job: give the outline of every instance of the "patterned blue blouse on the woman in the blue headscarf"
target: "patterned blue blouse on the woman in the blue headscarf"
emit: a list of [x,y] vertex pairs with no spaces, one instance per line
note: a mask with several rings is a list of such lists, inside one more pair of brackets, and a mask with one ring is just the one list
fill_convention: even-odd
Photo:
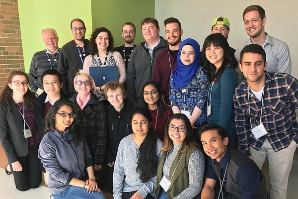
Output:
[[196,127],[207,120],[207,96],[209,85],[210,81],[208,74],[202,67],[199,68],[194,78],[183,88],[174,89],[172,76],[170,78],[171,107],[173,107],[173,105],[178,106],[180,110],[190,111],[190,114],[193,113],[196,106],[202,110],[202,114],[194,124]]

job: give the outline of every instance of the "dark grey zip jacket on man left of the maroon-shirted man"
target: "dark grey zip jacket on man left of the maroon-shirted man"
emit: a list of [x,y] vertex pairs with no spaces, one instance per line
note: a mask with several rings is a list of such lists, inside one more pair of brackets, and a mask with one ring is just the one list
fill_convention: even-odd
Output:
[[153,70],[157,54],[166,48],[167,42],[160,37],[159,44],[153,49],[152,59],[145,43],[139,44],[131,55],[127,68],[127,97],[132,103],[139,103],[143,98],[142,86],[153,79]]

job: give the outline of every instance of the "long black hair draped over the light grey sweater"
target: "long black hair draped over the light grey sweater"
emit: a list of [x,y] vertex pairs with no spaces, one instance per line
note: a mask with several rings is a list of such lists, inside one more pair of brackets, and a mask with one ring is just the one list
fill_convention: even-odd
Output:
[[[132,112],[131,120],[136,114],[141,114],[148,119],[149,123],[152,122],[152,116],[149,112],[149,109],[144,107],[135,108]],[[156,133],[150,126],[148,134],[141,144],[139,148],[139,154],[137,156],[138,166],[136,171],[140,175],[139,178],[142,183],[146,183],[157,174],[158,157],[156,154],[156,142]]]

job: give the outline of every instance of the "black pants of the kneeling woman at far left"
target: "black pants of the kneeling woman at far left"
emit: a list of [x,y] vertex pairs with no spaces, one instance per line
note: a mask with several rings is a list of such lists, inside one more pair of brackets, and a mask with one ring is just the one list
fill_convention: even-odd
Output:
[[19,191],[27,191],[30,188],[38,188],[41,183],[40,159],[38,158],[38,146],[28,147],[28,154],[18,157],[18,161],[22,165],[22,171],[14,172],[10,164],[13,174],[15,188]]

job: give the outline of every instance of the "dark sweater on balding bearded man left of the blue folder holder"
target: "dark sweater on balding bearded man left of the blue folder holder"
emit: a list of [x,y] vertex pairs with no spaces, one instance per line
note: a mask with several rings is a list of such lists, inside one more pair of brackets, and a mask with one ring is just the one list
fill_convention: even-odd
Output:
[[[84,40],[85,55],[90,54],[89,51],[89,40]],[[84,60],[85,57],[82,56]],[[78,54],[77,47],[73,41],[66,43],[62,48],[59,55],[58,71],[61,73],[63,78],[63,91],[65,94],[75,93],[74,90],[74,77],[75,74],[83,68],[83,63]]]

